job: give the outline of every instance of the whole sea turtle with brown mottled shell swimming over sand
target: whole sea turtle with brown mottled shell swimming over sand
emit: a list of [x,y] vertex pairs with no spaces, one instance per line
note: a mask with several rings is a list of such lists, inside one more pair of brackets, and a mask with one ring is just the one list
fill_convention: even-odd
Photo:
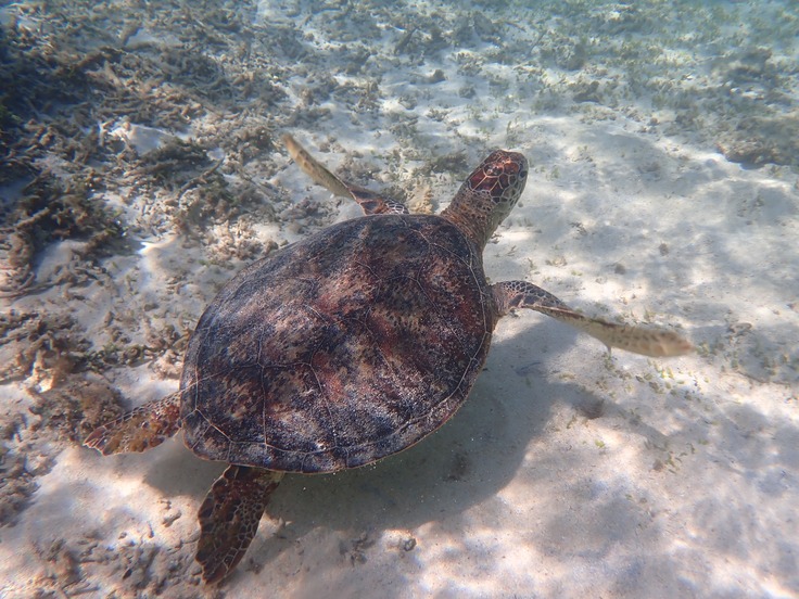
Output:
[[673,332],[582,316],[532,283],[485,280],[483,248],[527,182],[521,154],[493,152],[441,215],[411,215],[283,140],[314,181],[355,200],[366,216],[242,270],[200,318],[180,390],[85,442],[104,455],[143,451],[182,429],[194,454],[229,464],[199,512],[206,583],[244,556],[283,473],[371,463],[446,422],[512,309],[541,311],[608,347],[690,351]]

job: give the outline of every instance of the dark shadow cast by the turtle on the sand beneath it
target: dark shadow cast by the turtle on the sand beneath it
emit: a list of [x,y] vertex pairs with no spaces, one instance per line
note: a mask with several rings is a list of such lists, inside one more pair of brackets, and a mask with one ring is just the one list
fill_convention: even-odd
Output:
[[[357,538],[375,541],[386,531],[407,532],[411,538],[413,531],[427,523],[447,521],[448,527],[457,527],[453,522],[464,512],[494,497],[517,475],[531,441],[544,431],[556,404],[600,400],[586,397],[589,392],[575,383],[553,380],[540,371],[540,356],[520,356],[513,348],[517,344],[536,347],[540,330],[546,328],[558,331],[551,335],[547,356],[573,344],[571,331],[544,319],[494,344],[485,370],[458,413],[418,445],[357,469],[287,475],[266,509],[245,564],[269,569],[283,551],[293,551],[314,533],[329,535],[331,546],[343,547]],[[593,357],[603,360],[603,349],[597,347]],[[510,378],[527,378],[528,384],[503,382]],[[516,392],[520,387],[523,393]],[[199,462],[183,448],[151,459],[145,484],[166,497],[191,496],[198,508],[224,470],[223,462]],[[189,462],[192,475],[186,476],[181,472]],[[284,524],[276,531],[278,522]],[[328,563],[351,566],[334,547],[330,549]],[[229,584],[245,571],[246,566],[240,568]]]

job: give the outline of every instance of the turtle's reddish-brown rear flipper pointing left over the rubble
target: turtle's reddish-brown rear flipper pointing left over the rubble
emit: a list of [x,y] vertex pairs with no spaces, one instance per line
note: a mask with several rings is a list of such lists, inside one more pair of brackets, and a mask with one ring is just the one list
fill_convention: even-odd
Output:
[[180,392],[150,402],[94,429],[84,441],[103,456],[144,451],[180,429]]

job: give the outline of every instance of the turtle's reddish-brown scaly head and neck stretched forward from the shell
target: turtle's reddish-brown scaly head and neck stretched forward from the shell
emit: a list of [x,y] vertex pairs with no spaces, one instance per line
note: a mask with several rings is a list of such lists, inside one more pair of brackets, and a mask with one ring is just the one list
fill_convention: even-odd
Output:
[[442,213],[479,247],[519,201],[528,180],[528,161],[518,152],[496,150],[460,186],[449,206]]

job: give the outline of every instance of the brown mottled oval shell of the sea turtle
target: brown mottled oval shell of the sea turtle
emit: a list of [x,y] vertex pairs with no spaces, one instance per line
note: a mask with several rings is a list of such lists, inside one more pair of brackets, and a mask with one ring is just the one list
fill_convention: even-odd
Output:
[[228,282],[189,343],[185,441],[287,472],[363,466],[465,402],[497,310],[473,244],[432,215],[329,227]]

